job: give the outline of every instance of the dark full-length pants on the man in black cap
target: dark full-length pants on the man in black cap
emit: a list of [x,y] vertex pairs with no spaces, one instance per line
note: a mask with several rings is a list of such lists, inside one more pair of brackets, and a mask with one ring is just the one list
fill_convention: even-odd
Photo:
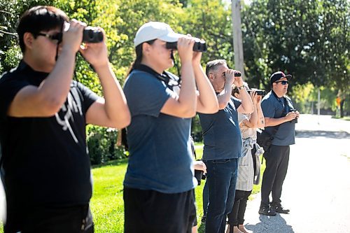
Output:
[[282,185],[289,162],[289,146],[271,145],[264,157],[266,169],[262,176],[261,206],[269,205],[270,192],[272,192],[272,203],[281,204]]

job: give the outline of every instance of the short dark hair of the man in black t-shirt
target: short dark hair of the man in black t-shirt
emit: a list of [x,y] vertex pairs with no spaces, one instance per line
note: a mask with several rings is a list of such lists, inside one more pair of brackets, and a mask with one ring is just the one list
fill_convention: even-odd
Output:
[[48,31],[50,29],[62,29],[64,22],[68,22],[69,17],[62,10],[53,6],[34,6],[20,18],[17,33],[20,40],[20,48],[25,52],[25,42],[23,36],[26,32],[31,32],[34,38],[40,31]]

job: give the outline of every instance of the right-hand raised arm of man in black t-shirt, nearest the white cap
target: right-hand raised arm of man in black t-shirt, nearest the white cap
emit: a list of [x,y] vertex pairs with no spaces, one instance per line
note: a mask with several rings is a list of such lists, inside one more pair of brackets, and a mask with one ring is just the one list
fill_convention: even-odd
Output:
[[80,52],[97,72],[104,93],[104,98],[99,98],[87,110],[86,122],[104,127],[126,127],[131,121],[130,111],[123,89],[109,64],[105,41],[87,43]]

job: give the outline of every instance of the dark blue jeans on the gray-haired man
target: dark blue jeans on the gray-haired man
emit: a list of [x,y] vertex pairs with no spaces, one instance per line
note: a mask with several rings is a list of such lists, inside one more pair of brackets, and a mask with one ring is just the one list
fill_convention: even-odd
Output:
[[238,162],[235,159],[207,160],[209,204],[206,233],[225,233],[226,216],[235,200]]

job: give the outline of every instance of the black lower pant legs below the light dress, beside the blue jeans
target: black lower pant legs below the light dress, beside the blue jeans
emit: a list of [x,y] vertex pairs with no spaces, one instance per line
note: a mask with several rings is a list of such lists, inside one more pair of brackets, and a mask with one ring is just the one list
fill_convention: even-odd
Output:
[[251,191],[236,190],[235,203],[231,213],[228,214],[228,224],[232,226],[243,225],[244,213],[246,213],[246,202]]

